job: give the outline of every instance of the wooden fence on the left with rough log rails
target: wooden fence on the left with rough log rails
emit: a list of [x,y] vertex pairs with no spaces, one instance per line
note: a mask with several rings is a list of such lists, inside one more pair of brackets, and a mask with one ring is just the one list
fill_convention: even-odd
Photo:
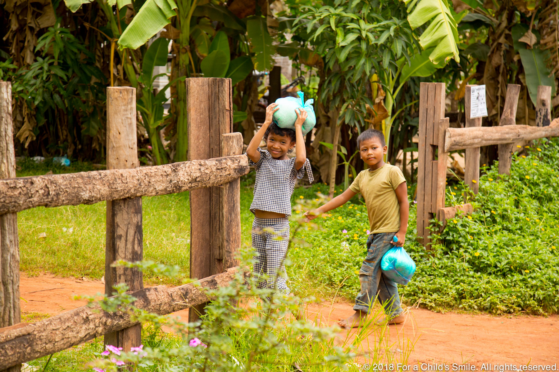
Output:
[[238,268],[241,244],[240,181],[249,171],[241,155],[243,138],[233,129],[231,80],[192,78],[188,94],[189,161],[139,167],[136,144],[136,90],[107,88],[107,170],[16,178],[11,84],[0,82],[0,371],[105,335],[105,344],[139,346],[141,325],[124,313],[87,307],[20,323],[17,212],[37,206],[107,201],[105,292],[128,284],[135,306],[168,314],[194,307],[195,320],[209,298],[192,284],[144,288],[137,269],[111,263],[143,258],[141,196],[190,190],[191,278],[203,287],[227,286]]

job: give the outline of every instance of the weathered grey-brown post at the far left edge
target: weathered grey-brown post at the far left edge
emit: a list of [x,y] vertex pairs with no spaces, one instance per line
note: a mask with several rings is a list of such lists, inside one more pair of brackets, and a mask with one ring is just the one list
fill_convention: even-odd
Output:
[[[0,81],[0,178],[16,177],[13,148],[12,83]],[[20,243],[17,213],[0,215],[0,328],[21,322]],[[0,366],[2,368],[2,366]],[[19,372],[21,365],[5,372]]]

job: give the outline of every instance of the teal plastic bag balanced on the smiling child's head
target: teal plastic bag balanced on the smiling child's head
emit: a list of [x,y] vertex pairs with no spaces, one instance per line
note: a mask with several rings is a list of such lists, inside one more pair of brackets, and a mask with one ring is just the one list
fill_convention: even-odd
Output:
[[307,118],[302,125],[301,131],[303,136],[305,136],[316,125],[316,116],[312,107],[314,99],[307,99],[307,102],[305,102],[303,92],[298,91],[297,94],[300,98],[285,97],[276,100],[279,110],[274,113],[273,122],[280,128],[295,129],[295,120],[297,120],[295,109],[304,109],[307,112]]

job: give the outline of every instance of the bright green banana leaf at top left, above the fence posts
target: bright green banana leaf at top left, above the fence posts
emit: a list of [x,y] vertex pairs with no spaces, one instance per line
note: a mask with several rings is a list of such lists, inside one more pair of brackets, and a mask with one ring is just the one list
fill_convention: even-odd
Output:
[[176,16],[173,0],[146,0],[119,38],[119,48],[138,49]]

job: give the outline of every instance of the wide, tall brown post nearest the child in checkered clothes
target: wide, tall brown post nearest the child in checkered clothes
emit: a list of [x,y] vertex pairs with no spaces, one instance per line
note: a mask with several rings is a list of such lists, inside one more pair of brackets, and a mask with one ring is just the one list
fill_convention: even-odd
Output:
[[[233,125],[231,79],[189,78],[186,79],[185,84],[188,113],[188,160],[223,156],[224,143],[229,144],[230,139],[224,139],[222,135],[231,133]],[[231,147],[228,145],[227,148]],[[238,146],[235,147],[234,152],[240,153]],[[228,238],[222,235],[221,224],[224,224],[225,219],[229,218],[229,212],[224,207],[233,207],[224,205],[224,192],[227,191],[226,195],[230,197],[233,190],[234,186],[227,189],[225,186],[217,186],[190,192],[191,278],[206,278],[224,272],[227,268],[224,260],[226,258],[225,241]],[[228,249],[236,250],[238,247],[228,247]],[[189,320],[191,322],[197,320],[205,306],[206,304],[191,307],[188,312]]]

